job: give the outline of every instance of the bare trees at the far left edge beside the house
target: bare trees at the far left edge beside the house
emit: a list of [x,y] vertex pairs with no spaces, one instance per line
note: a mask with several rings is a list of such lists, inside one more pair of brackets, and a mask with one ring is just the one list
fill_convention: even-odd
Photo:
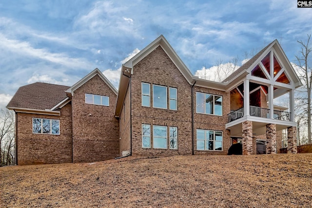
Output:
[[0,166],[15,164],[14,112],[0,110]]

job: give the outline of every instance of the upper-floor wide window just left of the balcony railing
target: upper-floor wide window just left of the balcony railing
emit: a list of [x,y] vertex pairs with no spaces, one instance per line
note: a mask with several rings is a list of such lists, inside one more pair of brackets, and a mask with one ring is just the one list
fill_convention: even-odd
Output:
[[222,115],[222,96],[196,92],[196,113]]

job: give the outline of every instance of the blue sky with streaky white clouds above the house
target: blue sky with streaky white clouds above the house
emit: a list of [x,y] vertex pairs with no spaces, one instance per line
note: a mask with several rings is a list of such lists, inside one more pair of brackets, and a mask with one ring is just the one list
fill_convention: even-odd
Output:
[[121,64],[161,34],[194,75],[274,39],[293,61],[311,20],[296,0],[1,0],[0,108],[20,86],[71,86],[95,68],[117,87]]

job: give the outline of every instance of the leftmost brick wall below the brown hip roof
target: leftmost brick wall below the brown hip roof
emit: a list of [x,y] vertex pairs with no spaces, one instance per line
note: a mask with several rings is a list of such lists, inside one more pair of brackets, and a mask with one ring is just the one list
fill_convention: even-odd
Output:
[[[72,162],[71,105],[60,116],[18,113],[18,165]],[[60,135],[34,134],[32,118],[58,119]]]

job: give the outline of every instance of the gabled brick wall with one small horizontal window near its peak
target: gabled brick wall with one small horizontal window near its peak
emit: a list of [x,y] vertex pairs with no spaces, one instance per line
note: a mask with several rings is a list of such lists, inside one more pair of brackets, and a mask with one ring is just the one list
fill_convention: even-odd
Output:
[[[109,96],[109,106],[85,104],[85,93]],[[98,76],[74,92],[74,162],[94,162],[119,156],[119,124],[115,118],[117,95]]]

